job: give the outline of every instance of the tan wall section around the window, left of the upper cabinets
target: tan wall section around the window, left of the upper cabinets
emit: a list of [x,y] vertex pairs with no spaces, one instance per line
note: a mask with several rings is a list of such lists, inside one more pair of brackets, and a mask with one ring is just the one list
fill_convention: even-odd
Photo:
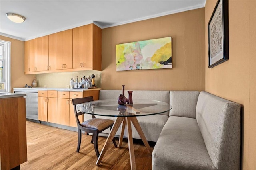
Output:
[[14,87],[32,84],[33,76],[24,74],[24,41],[0,36],[0,39],[11,42],[11,91]]

